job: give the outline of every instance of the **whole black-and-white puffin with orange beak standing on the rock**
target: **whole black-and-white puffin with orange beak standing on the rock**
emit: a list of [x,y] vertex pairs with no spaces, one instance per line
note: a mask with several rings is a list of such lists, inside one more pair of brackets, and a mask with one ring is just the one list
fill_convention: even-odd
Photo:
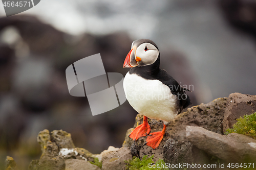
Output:
[[[126,99],[143,115],[143,123],[129,137],[136,141],[149,134],[144,144],[156,149],[168,124],[191,104],[186,94],[190,90],[182,87],[167,71],[160,69],[160,53],[150,39],[133,41],[123,67],[131,67],[123,80]],[[162,120],[163,130],[150,133],[147,117]]]

